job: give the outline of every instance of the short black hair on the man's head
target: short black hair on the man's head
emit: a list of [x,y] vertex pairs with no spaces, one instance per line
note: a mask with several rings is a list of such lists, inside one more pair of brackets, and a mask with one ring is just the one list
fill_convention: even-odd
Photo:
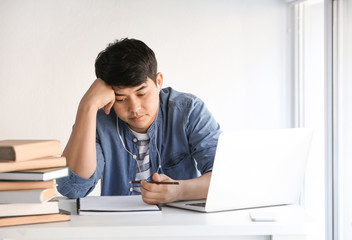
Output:
[[156,84],[157,61],[144,42],[123,38],[98,54],[95,74],[110,86],[136,87],[145,83],[147,77]]

